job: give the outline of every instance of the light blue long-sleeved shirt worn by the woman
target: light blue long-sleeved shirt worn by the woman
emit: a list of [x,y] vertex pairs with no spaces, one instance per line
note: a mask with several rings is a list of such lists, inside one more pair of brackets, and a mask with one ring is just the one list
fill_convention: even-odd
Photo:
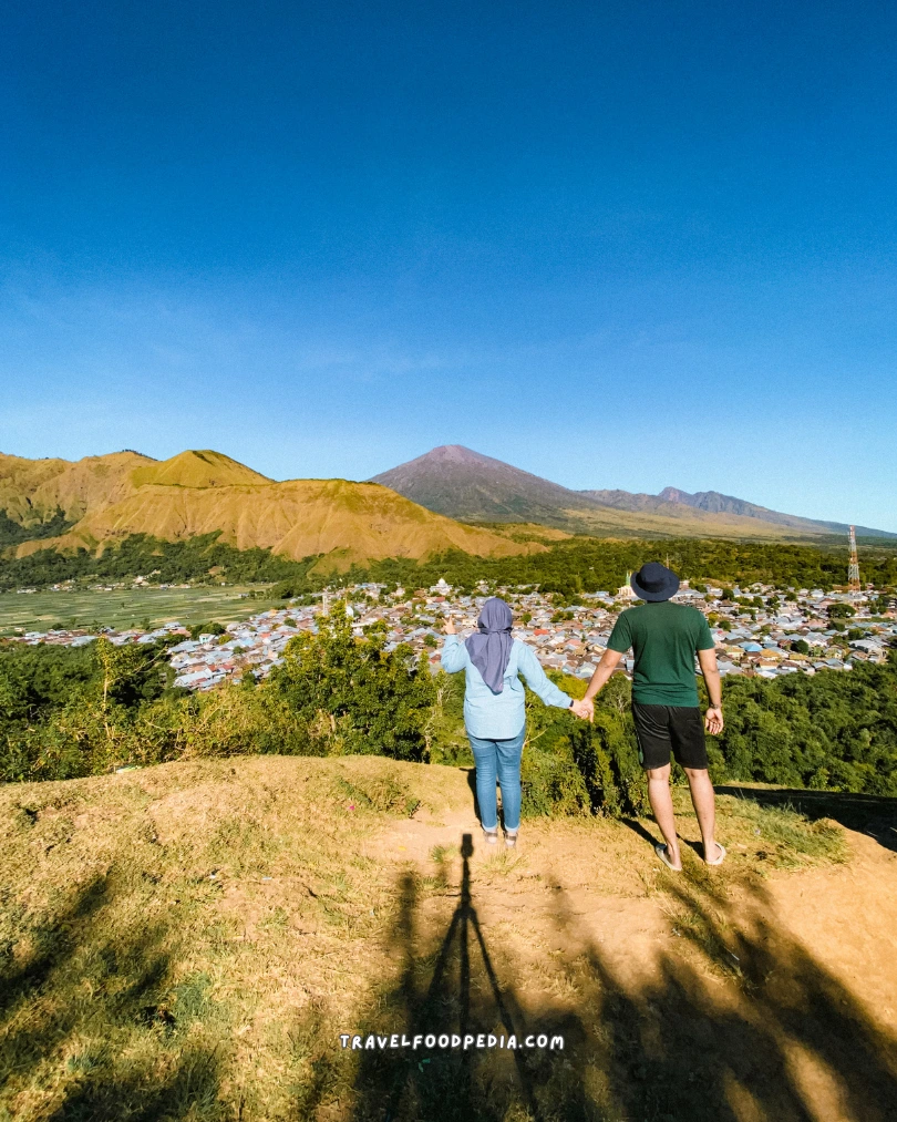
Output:
[[570,708],[572,699],[548,680],[531,647],[517,638],[511,645],[501,693],[493,693],[486,684],[460,635],[445,636],[442,664],[450,674],[465,671],[464,725],[471,736],[483,741],[510,741],[526,724],[526,695],[518,674],[526,678],[527,686],[546,705]]

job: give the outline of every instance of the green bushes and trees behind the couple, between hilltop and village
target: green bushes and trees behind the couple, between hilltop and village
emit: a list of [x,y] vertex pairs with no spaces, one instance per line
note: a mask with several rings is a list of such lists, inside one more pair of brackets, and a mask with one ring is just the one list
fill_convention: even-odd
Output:
[[[463,679],[435,679],[385,625],[352,636],[339,609],[300,633],[260,683],[173,689],[165,645],[0,647],[0,779],[70,779],[129,764],[253,753],[386,755],[471,764]],[[172,640],[176,642],[176,640]],[[571,696],[585,683],[563,678]],[[703,687],[702,687],[703,688]],[[594,724],[528,695],[525,813],[645,809],[629,683],[599,695]],[[727,726],[710,742],[716,780],[897,795],[897,654],[849,674],[723,683]]]

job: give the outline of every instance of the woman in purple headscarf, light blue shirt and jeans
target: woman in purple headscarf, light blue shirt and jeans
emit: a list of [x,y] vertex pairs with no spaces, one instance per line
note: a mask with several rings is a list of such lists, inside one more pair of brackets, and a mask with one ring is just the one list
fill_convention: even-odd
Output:
[[447,619],[442,664],[450,674],[465,671],[464,727],[477,763],[477,800],[486,840],[498,842],[496,778],[501,788],[505,844],[517,845],[520,828],[520,755],[526,735],[524,687],[546,705],[585,717],[580,702],[549,682],[526,643],[511,635],[511,609],[497,596],[483,605],[478,631],[462,643]]

